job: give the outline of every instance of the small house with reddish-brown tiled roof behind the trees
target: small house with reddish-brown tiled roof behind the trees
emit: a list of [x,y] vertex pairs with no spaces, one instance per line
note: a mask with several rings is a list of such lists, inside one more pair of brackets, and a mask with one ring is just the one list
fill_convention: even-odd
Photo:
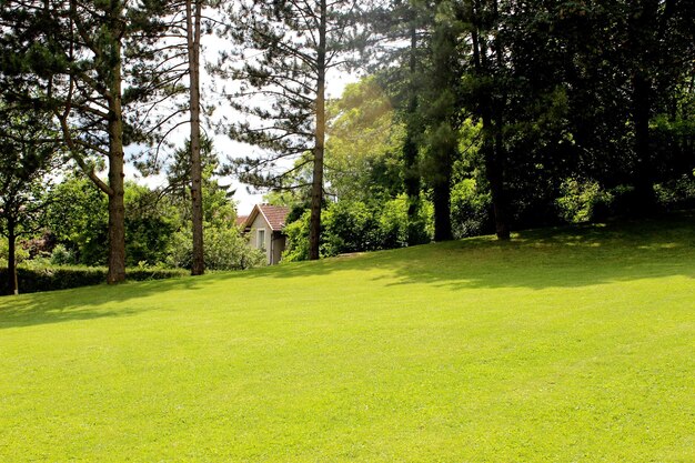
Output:
[[282,229],[290,208],[282,205],[256,204],[245,218],[242,230],[249,234],[249,244],[265,251],[268,264],[280,262],[285,249],[286,236]]

